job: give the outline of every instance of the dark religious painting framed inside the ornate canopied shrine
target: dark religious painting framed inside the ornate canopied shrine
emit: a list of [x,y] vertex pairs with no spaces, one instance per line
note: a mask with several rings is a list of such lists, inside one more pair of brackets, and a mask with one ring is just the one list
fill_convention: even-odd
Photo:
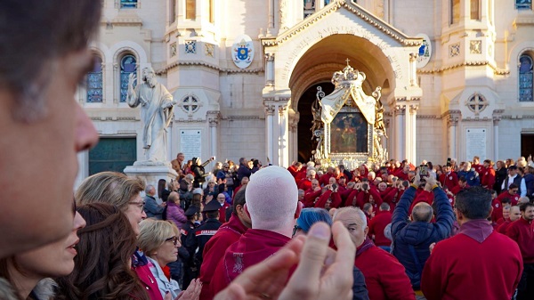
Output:
[[340,111],[330,124],[330,153],[357,152],[368,152],[368,122],[360,111]]

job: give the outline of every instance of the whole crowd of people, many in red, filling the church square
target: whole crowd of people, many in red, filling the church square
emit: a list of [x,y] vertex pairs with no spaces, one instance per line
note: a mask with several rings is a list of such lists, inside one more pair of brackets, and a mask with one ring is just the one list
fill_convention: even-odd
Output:
[[530,158],[206,172],[179,154],[170,182],[102,172],[73,197],[101,7],[0,3],[0,299],[534,298]]

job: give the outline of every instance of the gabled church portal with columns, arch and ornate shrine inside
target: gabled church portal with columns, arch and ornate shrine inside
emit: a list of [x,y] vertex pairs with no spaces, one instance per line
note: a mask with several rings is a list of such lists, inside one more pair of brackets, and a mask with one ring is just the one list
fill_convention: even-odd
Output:
[[420,37],[338,2],[260,39],[266,156],[273,164],[314,159],[355,166],[388,155],[416,161]]

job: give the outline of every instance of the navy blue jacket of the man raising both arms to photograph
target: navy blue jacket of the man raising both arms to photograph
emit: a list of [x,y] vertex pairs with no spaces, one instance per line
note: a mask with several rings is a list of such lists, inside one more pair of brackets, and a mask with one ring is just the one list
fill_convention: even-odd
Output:
[[420,288],[421,272],[430,256],[428,247],[433,242],[449,238],[455,220],[445,192],[435,188],[433,193],[434,207],[437,207],[435,223],[409,222],[409,207],[416,196],[416,189],[411,186],[402,194],[392,215],[392,255],[404,265],[414,289]]

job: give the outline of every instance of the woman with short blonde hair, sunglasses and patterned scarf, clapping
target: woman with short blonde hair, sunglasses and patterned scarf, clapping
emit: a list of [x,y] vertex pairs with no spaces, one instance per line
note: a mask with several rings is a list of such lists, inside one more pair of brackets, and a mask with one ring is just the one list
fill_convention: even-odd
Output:
[[198,280],[182,292],[178,282],[171,279],[167,264],[178,259],[178,247],[182,246],[180,231],[168,221],[144,220],[137,243],[149,260],[150,271],[158,281],[158,288],[164,299],[197,300],[202,288]]

